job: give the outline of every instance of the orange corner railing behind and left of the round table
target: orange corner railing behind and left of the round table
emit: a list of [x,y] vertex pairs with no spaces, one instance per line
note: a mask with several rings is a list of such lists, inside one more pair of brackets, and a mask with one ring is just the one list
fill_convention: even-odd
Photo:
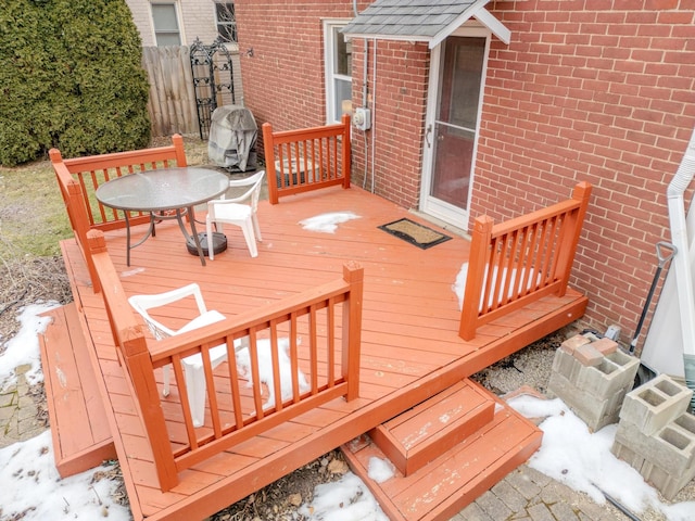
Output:
[[[157,167],[188,166],[184,138],[175,135],[172,144],[151,149],[115,152],[112,154],[90,155],[64,160],[60,150],[49,151],[53,171],[65,203],[73,233],[85,257],[94,292],[99,292],[99,282],[93,263],[89,256],[87,232],[90,229],[113,230],[125,228],[122,212],[104,207],[94,192],[99,185],[116,177]],[[139,213],[130,217],[130,226],[149,223],[147,214]]]

